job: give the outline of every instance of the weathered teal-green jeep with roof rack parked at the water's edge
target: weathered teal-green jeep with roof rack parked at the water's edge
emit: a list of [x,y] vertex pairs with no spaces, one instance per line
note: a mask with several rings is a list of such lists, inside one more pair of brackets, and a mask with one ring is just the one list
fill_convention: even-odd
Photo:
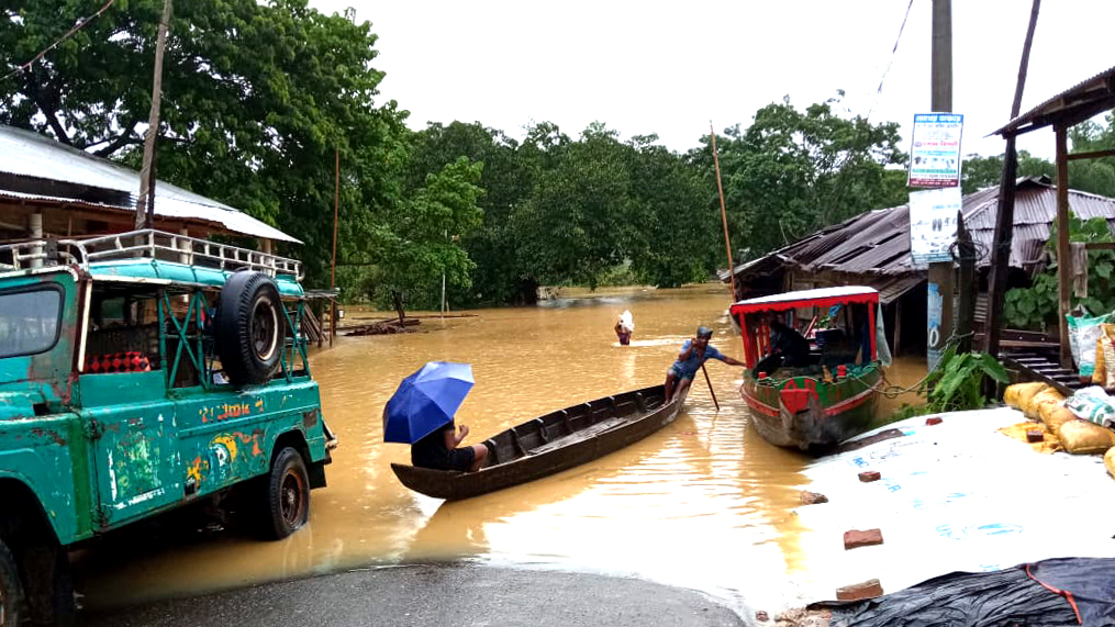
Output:
[[75,620],[67,550],[235,488],[309,520],[336,439],[298,262],[140,231],[0,246],[0,627]]

